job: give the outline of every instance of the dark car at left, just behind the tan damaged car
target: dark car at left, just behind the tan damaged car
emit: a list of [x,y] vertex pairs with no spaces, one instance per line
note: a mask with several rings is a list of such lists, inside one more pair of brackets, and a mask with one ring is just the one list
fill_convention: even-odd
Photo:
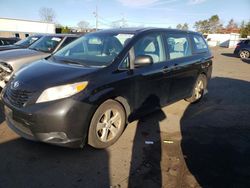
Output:
[[0,46],[0,51],[19,49],[19,48],[28,48],[30,45],[32,45],[34,42],[36,42],[42,36],[43,35],[32,35],[32,36],[29,36],[23,40],[20,40],[20,41],[14,43],[14,44]]

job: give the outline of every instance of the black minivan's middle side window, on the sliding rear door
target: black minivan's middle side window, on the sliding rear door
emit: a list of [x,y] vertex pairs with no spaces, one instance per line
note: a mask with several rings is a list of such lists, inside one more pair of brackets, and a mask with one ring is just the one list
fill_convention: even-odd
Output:
[[191,45],[185,34],[168,34],[167,46],[170,59],[187,57],[192,54]]

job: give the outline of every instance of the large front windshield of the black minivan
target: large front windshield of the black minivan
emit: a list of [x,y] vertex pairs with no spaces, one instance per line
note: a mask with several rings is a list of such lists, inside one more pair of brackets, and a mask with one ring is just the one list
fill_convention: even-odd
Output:
[[65,63],[83,66],[107,66],[133,37],[125,33],[91,33],[82,36],[54,54]]

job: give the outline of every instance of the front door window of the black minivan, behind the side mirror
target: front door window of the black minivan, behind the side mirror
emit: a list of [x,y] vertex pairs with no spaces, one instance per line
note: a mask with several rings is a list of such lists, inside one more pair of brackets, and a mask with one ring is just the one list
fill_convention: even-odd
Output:
[[150,34],[141,38],[134,45],[135,57],[149,55],[153,63],[166,60],[161,34]]

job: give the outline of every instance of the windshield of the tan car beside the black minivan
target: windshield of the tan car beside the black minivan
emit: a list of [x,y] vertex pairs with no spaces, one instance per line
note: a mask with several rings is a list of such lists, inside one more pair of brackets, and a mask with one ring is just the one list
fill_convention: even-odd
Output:
[[63,37],[59,36],[44,36],[29,48],[32,50],[42,51],[46,53],[52,53],[58,44],[61,42]]

